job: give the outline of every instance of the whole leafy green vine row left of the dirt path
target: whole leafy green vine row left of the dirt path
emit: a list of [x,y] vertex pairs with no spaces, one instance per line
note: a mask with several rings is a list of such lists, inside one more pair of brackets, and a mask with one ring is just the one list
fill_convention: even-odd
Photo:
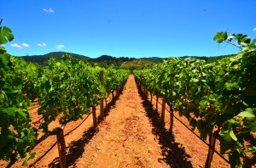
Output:
[[[49,59],[43,68],[8,53],[0,56],[0,160],[10,165],[19,158],[26,158],[26,165],[34,158],[32,148],[59,130],[49,130],[55,120],[65,126],[90,114],[90,107],[97,104],[102,106],[103,120],[103,99],[119,92],[129,75],[127,70],[92,67],[67,54],[59,62]],[[39,126],[31,125],[27,108],[32,102],[39,105]]]

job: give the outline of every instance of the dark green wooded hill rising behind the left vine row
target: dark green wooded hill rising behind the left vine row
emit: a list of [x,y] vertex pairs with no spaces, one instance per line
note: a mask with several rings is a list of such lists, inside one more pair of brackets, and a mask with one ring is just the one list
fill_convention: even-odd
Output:
[[[21,58],[25,59],[27,62],[32,62],[34,64],[41,64],[44,65],[47,63],[47,60],[49,58],[55,58],[56,60],[61,60],[61,56],[66,52],[52,52],[52,53],[46,53],[44,55],[32,55],[32,56],[21,56]],[[76,54],[76,53],[67,53],[72,55],[74,59],[87,61],[90,59],[90,57]]]

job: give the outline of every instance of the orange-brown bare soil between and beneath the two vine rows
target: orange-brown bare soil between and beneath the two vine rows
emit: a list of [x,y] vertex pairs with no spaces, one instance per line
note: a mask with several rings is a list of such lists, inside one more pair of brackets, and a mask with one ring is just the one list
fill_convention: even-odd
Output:
[[[172,136],[168,132],[170,116],[166,112],[166,126],[162,126],[160,105],[157,112],[155,100],[152,105],[139,92],[134,76],[129,76],[124,88],[119,98],[109,106],[106,118],[99,123],[96,132],[90,115],[78,129],[65,137],[68,167],[204,167],[207,145],[177,120],[174,120]],[[35,125],[40,120],[37,110],[30,110]],[[97,116],[99,113],[97,107]],[[68,123],[64,134],[82,121]],[[53,129],[57,126],[60,124],[55,121],[49,127]],[[56,137],[51,136],[39,143],[33,149],[37,153],[36,158],[29,160],[28,165],[44,154],[55,141]],[[13,167],[20,167],[21,163],[22,160],[19,160]],[[6,165],[0,161],[0,167]],[[60,167],[56,145],[33,167]],[[214,154],[212,167],[229,165]]]

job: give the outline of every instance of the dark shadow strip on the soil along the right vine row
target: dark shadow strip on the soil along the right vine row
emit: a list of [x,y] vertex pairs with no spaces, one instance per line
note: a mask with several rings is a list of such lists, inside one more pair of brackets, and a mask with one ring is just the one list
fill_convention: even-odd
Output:
[[184,167],[189,168],[193,167],[189,158],[191,156],[186,154],[185,149],[181,143],[175,142],[175,137],[166,130],[165,126],[161,123],[160,114],[154,109],[154,106],[148,101],[143,92],[139,87],[140,96],[143,98],[143,107],[147,112],[147,116],[152,123],[154,128],[152,129],[152,133],[155,135],[156,140],[159,141],[162,149],[163,159],[159,159],[159,161],[164,161],[171,167]]

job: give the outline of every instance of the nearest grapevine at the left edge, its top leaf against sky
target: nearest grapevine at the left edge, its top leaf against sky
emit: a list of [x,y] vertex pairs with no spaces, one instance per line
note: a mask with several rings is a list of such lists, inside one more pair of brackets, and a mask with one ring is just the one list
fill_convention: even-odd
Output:
[[[13,39],[12,31],[0,26],[0,45]],[[20,64],[1,46],[0,65],[0,160],[32,158],[34,154],[27,153],[35,143],[36,133],[26,110],[30,101],[22,91],[22,76],[16,73]]]

